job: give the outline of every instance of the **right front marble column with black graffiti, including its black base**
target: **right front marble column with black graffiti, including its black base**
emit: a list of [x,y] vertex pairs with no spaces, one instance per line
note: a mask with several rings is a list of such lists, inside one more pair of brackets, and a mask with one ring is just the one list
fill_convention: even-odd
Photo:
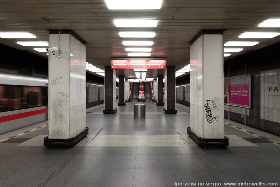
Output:
[[228,146],[224,133],[223,52],[223,30],[202,30],[191,41],[190,68],[194,70],[190,71],[188,134],[200,146]]

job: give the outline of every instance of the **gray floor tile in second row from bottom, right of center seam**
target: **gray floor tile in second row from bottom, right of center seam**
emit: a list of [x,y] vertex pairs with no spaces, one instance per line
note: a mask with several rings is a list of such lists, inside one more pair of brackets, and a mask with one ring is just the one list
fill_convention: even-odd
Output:
[[136,155],[135,168],[162,168],[159,155]]

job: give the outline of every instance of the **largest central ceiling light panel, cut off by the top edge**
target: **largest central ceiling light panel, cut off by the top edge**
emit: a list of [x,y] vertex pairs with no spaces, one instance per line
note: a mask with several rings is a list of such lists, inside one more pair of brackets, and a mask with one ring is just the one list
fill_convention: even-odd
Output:
[[105,0],[110,10],[160,9],[162,0]]

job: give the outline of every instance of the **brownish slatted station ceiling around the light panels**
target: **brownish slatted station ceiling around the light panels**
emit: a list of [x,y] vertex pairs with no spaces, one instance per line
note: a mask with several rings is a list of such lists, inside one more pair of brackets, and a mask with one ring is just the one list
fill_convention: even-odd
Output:
[[[124,39],[120,38],[119,31],[155,31],[151,57],[166,57],[167,65],[176,66],[178,70],[189,64],[189,41],[201,29],[226,29],[225,43],[259,41],[255,46],[243,47],[244,50],[231,53],[225,60],[280,41],[280,36],[270,39],[238,38],[245,31],[279,31],[280,28],[258,27],[264,20],[280,18],[279,0],[209,2],[163,0],[159,10],[109,10],[105,0],[1,0],[0,31],[28,31],[37,38],[0,38],[0,43],[47,57],[47,53],[37,52],[33,50],[34,47],[20,46],[16,42],[48,41],[48,29],[71,29],[87,42],[86,61],[104,68],[110,66],[110,57],[127,57],[122,44]],[[47,17],[52,22],[43,22],[41,17]],[[158,24],[150,28],[120,28],[114,25],[114,19],[158,19]],[[146,77],[156,77],[158,73],[162,74],[162,70],[150,70]],[[125,73],[126,76],[132,74],[130,70]]]

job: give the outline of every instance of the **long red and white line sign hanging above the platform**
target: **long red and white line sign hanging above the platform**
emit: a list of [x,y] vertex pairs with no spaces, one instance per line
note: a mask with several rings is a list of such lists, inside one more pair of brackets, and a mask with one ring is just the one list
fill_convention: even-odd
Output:
[[111,60],[111,69],[166,69],[166,60]]

